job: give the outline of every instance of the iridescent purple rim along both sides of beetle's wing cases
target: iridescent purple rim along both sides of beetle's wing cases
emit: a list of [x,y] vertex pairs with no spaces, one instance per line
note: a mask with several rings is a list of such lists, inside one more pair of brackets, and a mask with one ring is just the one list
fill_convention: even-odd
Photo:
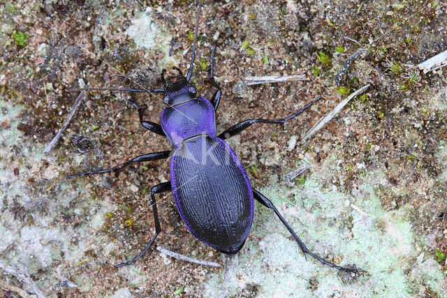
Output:
[[[245,232],[245,234],[244,234],[244,241],[242,242],[242,246],[243,246],[244,243],[245,243],[245,240],[247,239],[247,237],[248,237],[248,235],[249,235],[249,232],[250,232],[250,229],[251,229],[251,224],[253,223],[253,216],[254,216],[254,198],[253,198],[253,190],[251,189],[251,184],[250,184],[249,177],[247,176],[247,172],[245,172],[244,167],[242,167],[242,164],[240,163],[240,161],[239,161],[239,159],[237,158],[236,154],[234,153],[233,149],[231,149],[230,145],[228,145],[225,141],[219,139],[219,137],[216,137],[216,139],[217,139],[219,142],[223,143],[223,144],[225,145],[226,149],[228,149],[228,151],[230,151],[230,154],[231,154],[231,156],[232,156],[232,158],[233,158],[233,161],[235,161],[237,167],[239,167],[239,169],[241,170],[242,174],[244,175],[245,183],[246,183],[247,186],[249,186],[249,188],[250,188],[250,192],[249,192],[249,193],[250,193],[250,199],[251,199],[251,200],[250,200],[250,202],[251,202],[251,206],[250,206],[250,207],[251,207],[251,210],[250,210],[250,216],[251,216],[251,218],[250,218],[250,225],[249,225],[249,228],[247,229],[247,232]],[[176,150],[175,152],[177,152],[177,150]],[[209,242],[204,241],[203,239],[200,239],[200,237],[198,237],[198,235],[197,235],[193,230],[191,230],[191,228],[189,227],[189,225],[188,225],[188,224],[186,223],[186,221],[185,221],[185,218],[184,218],[184,216],[183,216],[183,210],[182,210],[182,207],[180,207],[179,202],[178,202],[178,200],[177,200],[177,192],[176,192],[176,190],[177,190],[177,185],[175,184],[175,179],[174,179],[174,176],[173,176],[173,172],[174,172],[174,169],[173,169],[173,164],[174,164],[174,163],[173,163],[173,160],[174,160],[175,157],[176,157],[176,156],[175,156],[175,153],[174,153],[173,158],[171,158],[171,160],[170,160],[170,184],[171,184],[172,189],[173,189],[174,200],[175,200],[175,204],[177,205],[177,210],[179,211],[180,217],[182,218],[182,221],[183,221],[184,224],[186,225],[186,228],[188,228],[188,230],[189,230],[191,233],[193,233],[193,235],[194,235],[197,239],[199,239],[200,241],[202,241],[202,242],[203,242],[204,244],[206,244],[207,246],[211,246],[212,248],[217,249],[217,251],[219,251],[219,248],[217,248],[215,245],[210,244]],[[242,246],[241,246],[240,248],[242,248]]]

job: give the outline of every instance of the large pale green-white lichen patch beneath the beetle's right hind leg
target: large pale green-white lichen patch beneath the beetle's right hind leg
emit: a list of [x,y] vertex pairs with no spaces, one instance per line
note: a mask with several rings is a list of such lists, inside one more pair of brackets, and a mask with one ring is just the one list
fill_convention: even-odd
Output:
[[[326,163],[327,171],[333,164]],[[273,212],[257,206],[250,235],[261,241],[249,238],[239,262],[208,281],[206,295],[215,295],[216,288],[236,295],[248,286],[260,297],[402,297],[425,290],[447,295],[437,262],[429,253],[421,256],[418,239],[423,237],[412,230],[412,207],[386,211],[376,197],[374,185],[385,183],[383,173],[369,173],[349,194],[322,188],[318,177],[318,172],[309,175],[294,199],[282,187],[261,192],[311,251],[337,265],[356,265],[363,274],[346,282],[339,271],[305,258]]]

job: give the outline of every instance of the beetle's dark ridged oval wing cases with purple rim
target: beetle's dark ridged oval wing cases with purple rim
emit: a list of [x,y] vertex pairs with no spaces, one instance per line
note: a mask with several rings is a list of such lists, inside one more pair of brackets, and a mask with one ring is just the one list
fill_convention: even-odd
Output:
[[184,141],[170,162],[170,179],[186,227],[218,251],[237,253],[254,203],[247,173],[228,144],[209,135]]

